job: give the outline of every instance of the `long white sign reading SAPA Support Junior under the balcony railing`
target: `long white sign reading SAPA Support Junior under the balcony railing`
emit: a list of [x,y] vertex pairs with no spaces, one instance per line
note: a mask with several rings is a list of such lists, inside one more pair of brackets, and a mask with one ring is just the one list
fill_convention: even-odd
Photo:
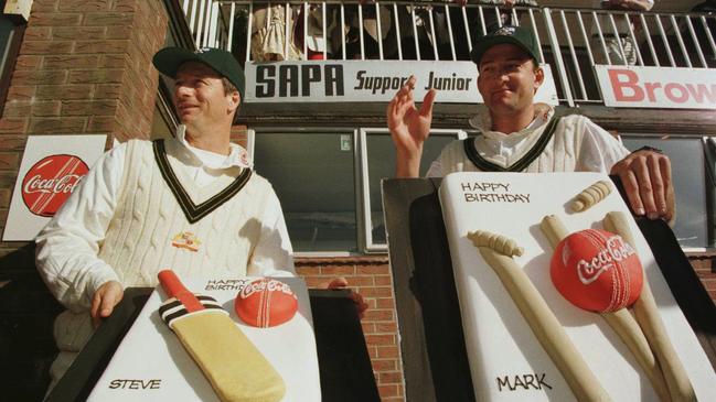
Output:
[[[535,101],[558,105],[548,65]],[[478,68],[472,62],[335,61],[277,62],[246,65],[246,101],[375,102],[389,101],[408,80],[417,78],[414,96],[438,89],[436,101],[481,104]]]

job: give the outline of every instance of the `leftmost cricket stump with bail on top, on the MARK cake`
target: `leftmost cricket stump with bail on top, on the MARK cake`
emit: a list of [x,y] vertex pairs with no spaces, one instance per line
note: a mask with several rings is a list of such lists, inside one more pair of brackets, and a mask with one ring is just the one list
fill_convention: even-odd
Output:
[[512,259],[522,248],[512,239],[488,231],[468,233],[485,262],[492,267],[539,344],[562,372],[579,401],[610,401],[559,320],[527,275]]

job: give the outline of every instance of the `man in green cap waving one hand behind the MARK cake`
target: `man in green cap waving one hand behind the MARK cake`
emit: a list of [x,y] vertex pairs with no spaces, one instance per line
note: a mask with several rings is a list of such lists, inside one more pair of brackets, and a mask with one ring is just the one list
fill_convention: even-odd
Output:
[[[620,176],[632,210],[651,219],[674,216],[671,164],[661,151],[629,151],[584,116],[556,117],[534,104],[544,72],[533,32],[505,25],[482,36],[470,56],[478,65],[478,89],[488,113],[470,124],[480,135],[448,144],[427,176],[452,172],[605,172]],[[423,144],[430,133],[430,89],[415,107],[410,77],[388,104],[388,129],[396,148],[396,175],[417,177]],[[539,104],[545,106],[544,104]]]

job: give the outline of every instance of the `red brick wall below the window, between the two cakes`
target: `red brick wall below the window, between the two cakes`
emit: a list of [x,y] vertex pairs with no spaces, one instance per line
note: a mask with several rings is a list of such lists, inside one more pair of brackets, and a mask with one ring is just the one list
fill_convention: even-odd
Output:
[[362,320],[363,334],[381,399],[404,401],[393,276],[387,257],[299,258],[296,270],[309,286],[343,276],[349,286],[361,293],[368,305]]

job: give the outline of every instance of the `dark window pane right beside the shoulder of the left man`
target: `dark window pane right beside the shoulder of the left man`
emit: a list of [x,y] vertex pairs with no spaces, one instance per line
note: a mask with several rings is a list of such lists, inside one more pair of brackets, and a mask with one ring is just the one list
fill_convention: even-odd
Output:
[[256,132],[256,172],[281,202],[295,251],[356,251],[353,132]]

